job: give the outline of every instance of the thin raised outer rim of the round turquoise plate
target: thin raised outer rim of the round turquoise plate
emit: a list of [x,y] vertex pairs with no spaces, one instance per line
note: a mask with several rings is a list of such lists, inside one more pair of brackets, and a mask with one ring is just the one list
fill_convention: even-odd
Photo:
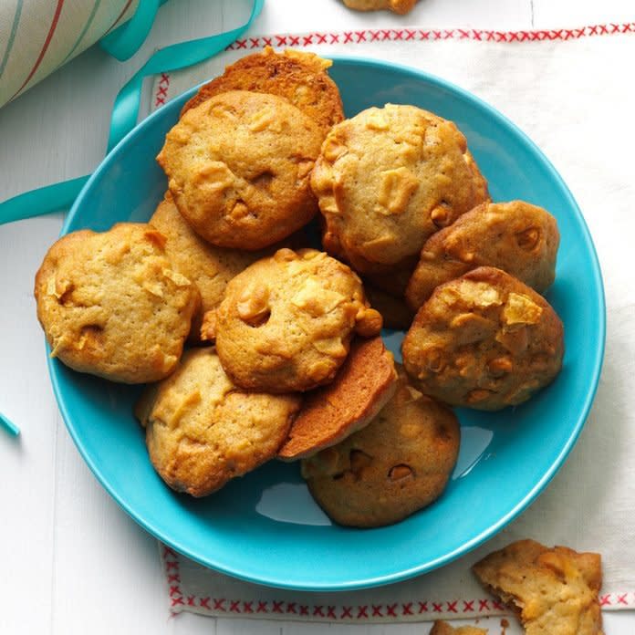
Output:
[[[531,505],[537,498],[539,494],[545,489],[547,484],[553,479],[553,477],[557,474],[558,470],[562,467],[562,465],[566,462],[568,454],[571,452],[572,448],[578,441],[580,432],[584,428],[585,423],[588,420],[588,414],[595,400],[596,393],[599,386],[599,378],[601,375],[605,347],[606,347],[606,299],[605,299],[605,290],[604,284],[601,274],[601,268],[599,265],[599,258],[597,251],[595,249],[595,245],[593,244],[593,240],[591,234],[588,230],[588,225],[582,214],[578,203],[576,202],[573,194],[569,190],[567,183],[560,176],[559,172],[557,172],[553,163],[549,161],[545,153],[536,145],[535,141],[532,141],[531,138],[512,120],[509,120],[502,112],[498,109],[495,109],[493,106],[488,104],[484,99],[479,98],[474,93],[470,92],[465,88],[461,88],[460,86],[454,84],[451,81],[448,81],[444,78],[440,78],[435,76],[427,71],[421,70],[419,68],[413,68],[407,65],[387,62],[380,59],[374,59],[370,57],[354,57],[354,56],[341,56],[341,55],[333,55],[329,56],[329,59],[333,60],[334,65],[339,64],[352,64],[359,65],[363,67],[371,67],[371,68],[380,68],[380,69],[389,69],[390,71],[397,70],[404,75],[410,75],[411,78],[423,80],[424,82],[434,86],[435,88],[442,88],[454,94],[454,96],[458,96],[463,101],[467,101],[472,105],[475,105],[477,108],[482,109],[486,112],[489,118],[492,118],[496,121],[497,124],[502,125],[507,131],[511,132],[518,139],[523,141],[526,145],[527,149],[532,152],[532,154],[541,161],[545,167],[547,168],[547,172],[549,172],[550,177],[559,184],[563,193],[566,195],[567,205],[570,209],[573,210],[575,215],[578,218],[578,222],[582,229],[582,234],[584,237],[584,243],[586,250],[590,257],[590,265],[593,271],[593,279],[595,281],[595,288],[598,293],[597,296],[594,294],[592,297],[594,304],[597,307],[597,318],[598,318],[598,335],[599,341],[595,350],[594,359],[592,360],[592,368],[593,373],[591,380],[589,382],[589,390],[585,396],[585,399],[581,405],[581,408],[578,413],[577,421],[575,425],[572,427],[571,432],[567,438],[567,442],[564,443],[563,447],[560,449],[560,452],[557,454],[556,459],[553,461],[549,469],[543,476],[534,484],[534,486],[529,490],[529,492],[520,500],[518,503],[509,510],[505,515],[503,515],[497,522],[489,526],[487,529],[482,531],[479,535],[474,536],[471,540],[468,540],[458,547],[454,549],[450,553],[446,553],[443,556],[437,557],[432,561],[429,560],[419,565],[415,565],[413,567],[409,567],[406,569],[401,569],[399,571],[384,574],[380,576],[370,576],[365,578],[356,578],[356,579],[348,579],[343,582],[333,583],[326,582],[320,583],[315,582],[310,585],[297,585],[294,583],[286,583],[284,580],[280,580],[276,577],[266,578],[263,576],[257,576],[250,574],[245,570],[236,570],[235,568],[230,568],[225,566],[223,563],[218,562],[217,558],[209,558],[198,555],[197,553],[193,553],[193,549],[190,547],[184,547],[181,545],[179,540],[175,540],[170,536],[165,536],[163,531],[155,526],[153,526],[150,522],[148,522],[145,518],[141,517],[138,513],[136,513],[130,505],[123,500],[122,496],[118,494],[114,488],[111,488],[107,482],[106,477],[99,469],[99,466],[95,463],[91,455],[87,452],[80,435],[78,435],[78,431],[72,421],[72,418],[69,415],[67,403],[63,396],[63,391],[61,390],[59,384],[59,374],[57,372],[57,367],[54,362],[54,359],[47,356],[47,368],[49,377],[51,379],[51,383],[53,385],[53,390],[55,393],[57,407],[62,414],[62,418],[66,425],[68,432],[70,433],[73,442],[78,448],[78,452],[80,453],[84,462],[88,465],[88,468],[97,478],[99,484],[106,490],[106,492],[113,498],[113,500],[120,505],[120,507],[128,514],[130,517],[139,524],[144,530],[149,532],[155,538],[161,540],[161,542],[168,547],[172,547],[180,552],[185,557],[192,558],[194,561],[203,565],[203,567],[211,568],[215,571],[223,573],[225,575],[231,576],[233,578],[239,578],[245,580],[247,582],[252,582],[255,584],[265,585],[271,588],[284,588],[284,589],[292,589],[292,590],[302,590],[302,591],[350,591],[356,590],[360,588],[374,588],[380,587],[384,585],[388,585],[391,583],[399,582],[402,580],[406,580],[409,578],[413,578],[415,576],[422,575],[423,573],[432,571],[435,568],[442,567],[447,565],[453,560],[461,557],[470,551],[474,550],[474,548],[483,544],[489,538],[495,536],[501,529],[503,529],[506,525],[508,525],[512,520],[515,519],[518,515],[520,515],[526,508]],[[183,92],[181,95],[175,97],[175,99],[186,99],[187,97],[193,95],[193,93],[203,84],[210,81],[210,78],[204,80],[203,82],[197,84],[193,88],[188,89]],[[170,103],[170,102],[168,102]],[[75,220],[75,216],[78,213],[78,209],[81,207],[84,198],[88,195],[88,192],[92,188],[94,182],[96,182],[101,173],[105,172],[109,168],[109,164],[112,161],[115,161],[117,155],[120,153],[121,149],[125,147],[130,141],[134,138],[142,134],[143,130],[150,125],[151,121],[157,117],[161,116],[162,108],[157,109],[152,112],[148,117],[144,120],[141,120],[135,128],[130,130],[128,134],[119,142],[117,145],[109,151],[106,157],[99,163],[99,166],[96,170],[91,174],[88,182],[84,184],[84,187],[81,189],[78,197],[73,203],[65,221],[62,225],[62,229],[60,231],[60,236],[68,234],[69,226],[73,224]],[[50,352],[50,349],[47,345],[47,352]]]

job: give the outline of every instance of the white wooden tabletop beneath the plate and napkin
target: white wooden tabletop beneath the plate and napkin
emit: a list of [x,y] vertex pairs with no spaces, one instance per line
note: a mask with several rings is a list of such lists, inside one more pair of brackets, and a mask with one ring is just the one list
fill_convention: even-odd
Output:
[[[126,63],[97,47],[0,109],[0,201],[90,172],[103,158],[112,100],[151,52],[238,26],[247,0],[170,0]],[[630,21],[624,0],[421,0],[405,18],[349,12],[338,0],[266,0],[259,33],[417,24],[528,29]],[[156,541],[110,499],[57,411],[36,322],[33,278],[61,215],[0,226],[0,410],[22,429],[0,433],[0,633],[423,633],[421,625],[330,626],[170,617]],[[635,632],[611,614],[608,635]],[[481,624],[486,624],[482,620]],[[492,619],[491,633],[501,632]],[[520,632],[507,629],[510,635]]]

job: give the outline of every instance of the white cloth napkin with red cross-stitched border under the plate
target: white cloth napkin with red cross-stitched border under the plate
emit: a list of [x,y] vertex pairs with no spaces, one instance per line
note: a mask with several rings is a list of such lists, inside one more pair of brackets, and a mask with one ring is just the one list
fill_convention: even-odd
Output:
[[524,537],[599,551],[602,608],[634,609],[635,82],[626,69],[635,58],[635,23],[506,33],[409,27],[246,36],[196,68],[158,76],[151,108],[265,44],[422,68],[471,90],[525,130],[574,193],[598,249],[608,310],[604,370],[579,442],[547,490],[512,525],[453,564],[389,587],[315,594],[228,578],[160,546],[172,610],[338,622],[501,614],[469,567]]

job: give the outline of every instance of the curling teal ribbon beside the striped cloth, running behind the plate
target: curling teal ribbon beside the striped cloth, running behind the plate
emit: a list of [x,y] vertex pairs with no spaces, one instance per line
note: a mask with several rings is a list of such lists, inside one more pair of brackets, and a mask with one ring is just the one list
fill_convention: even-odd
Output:
[[[142,0],[138,12],[142,6],[151,7],[155,0],[147,3]],[[149,75],[160,72],[168,72],[178,68],[186,68],[198,64],[204,59],[213,57],[228,47],[235,39],[241,36],[252,25],[255,18],[260,15],[265,0],[254,0],[251,15],[243,26],[226,31],[217,36],[202,37],[200,39],[173,44],[170,47],[161,48],[130,78],[128,83],[121,88],[112,109],[110,120],[110,132],[108,151],[112,150],[129,132],[137,125],[139,106],[141,104],[141,86],[143,79]],[[150,10],[150,8],[149,8]],[[131,20],[134,20],[133,16]],[[141,19],[141,18],[140,18]],[[128,24],[120,27],[125,28]],[[119,29],[118,29],[119,30]],[[111,36],[114,36],[113,32]],[[130,51],[128,40],[121,34],[121,44],[118,53],[124,55]],[[108,38],[107,38],[108,39]],[[130,39],[131,41],[131,39]],[[125,45],[125,46],[124,46]],[[126,47],[129,47],[126,49]],[[81,188],[88,181],[88,176],[80,176],[70,181],[48,185],[31,192],[19,194],[14,198],[0,203],[0,224],[11,223],[25,218],[41,216],[46,213],[67,209],[78,196]]]

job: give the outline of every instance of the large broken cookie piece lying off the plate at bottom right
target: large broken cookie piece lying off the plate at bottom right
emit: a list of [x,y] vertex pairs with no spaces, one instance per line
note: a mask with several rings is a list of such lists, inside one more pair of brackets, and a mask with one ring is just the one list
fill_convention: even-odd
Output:
[[527,635],[602,635],[599,554],[519,540],[477,562],[479,582],[515,611]]

